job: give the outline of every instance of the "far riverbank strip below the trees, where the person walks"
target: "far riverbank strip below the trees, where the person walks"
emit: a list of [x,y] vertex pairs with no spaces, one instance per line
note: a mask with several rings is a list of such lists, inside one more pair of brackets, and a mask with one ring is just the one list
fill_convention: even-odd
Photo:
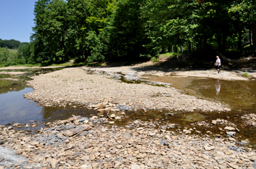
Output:
[[[168,66],[168,63],[175,62]],[[126,62],[107,62],[102,63],[100,67],[83,67],[91,71],[104,71],[104,72],[122,72],[122,73],[136,73],[138,75],[157,75],[157,76],[173,76],[173,77],[205,77],[212,79],[225,79],[225,80],[248,80],[256,79],[256,70],[254,67],[242,68],[242,69],[233,69],[233,67],[228,67],[225,65],[220,74],[213,68],[205,69],[195,69],[191,68],[182,68],[178,67],[182,61],[177,60],[167,60],[165,58],[161,59],[158,62],[130,62],[130,66],[123,66]],[[176,65],[177,64],[177,65]],[[69,65],[72,67],[72,64]],[[65,66],[48,66],[48,67],[23,67],[23,66],[12,66],[12,67],[0,67],[2,73],[8,74],[5,70],[17,70],[17,69],[55,69],[55,68],[66,68]],[[248,75],[243,76],[244,73]]]

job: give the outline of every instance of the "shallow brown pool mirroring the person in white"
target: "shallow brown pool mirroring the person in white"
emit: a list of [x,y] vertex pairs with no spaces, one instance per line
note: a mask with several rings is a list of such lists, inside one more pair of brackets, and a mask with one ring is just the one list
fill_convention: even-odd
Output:
[[256,109],[256,81],[229,81],[182,77],[150,77],[152,81],[173,83],[173,87],[186,90],[199,98],[225,102],[233,109]]

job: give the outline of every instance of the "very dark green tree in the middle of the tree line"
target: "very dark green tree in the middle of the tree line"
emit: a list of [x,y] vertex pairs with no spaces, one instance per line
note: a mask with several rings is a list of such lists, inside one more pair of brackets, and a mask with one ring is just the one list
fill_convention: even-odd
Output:
[[128,56],[132,59],[145,53],[141,1],[118,1],[117,9],[111,18],[110,49],[115,56]]

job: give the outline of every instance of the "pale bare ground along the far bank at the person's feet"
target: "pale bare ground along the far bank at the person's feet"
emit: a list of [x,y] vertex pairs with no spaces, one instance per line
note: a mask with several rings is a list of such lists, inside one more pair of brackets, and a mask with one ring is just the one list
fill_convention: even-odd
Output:
[[[121,63],[122,64],[122,63]],[[120,64],[119,64],[120,65]],[[14,69],[53,69],[61,67],[1,67],[0,70]],[[249,80],[256,79],[256,70],[240,69],[240,70],[223,70],[220,74],[215,69],[195,70],[195,69],[166,69],[155,67],[154,63],[143,62],[132,66],[114,66],[114,67],[83,67],[91,71],[104,72],[122,72],[125,74],[141,75],[157,75],[157,76],[176,76],[176,77],[205,77],[212,79],[227,79],[227,80]],[[248,77],[243,77],[244,73],[248,73]]]

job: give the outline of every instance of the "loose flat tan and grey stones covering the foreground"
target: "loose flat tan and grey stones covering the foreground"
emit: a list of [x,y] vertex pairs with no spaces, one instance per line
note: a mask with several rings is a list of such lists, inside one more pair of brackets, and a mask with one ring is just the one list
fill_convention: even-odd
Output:
[[[74,116],[46,124],[38,134],[1,126],[0,151],[11,153],[0,157],[0,168],[255,168],[255,150],[234,139],[172,132],[154,121],[111,126],[109,120]],[[13,164],[12,156],[20,161]]]

